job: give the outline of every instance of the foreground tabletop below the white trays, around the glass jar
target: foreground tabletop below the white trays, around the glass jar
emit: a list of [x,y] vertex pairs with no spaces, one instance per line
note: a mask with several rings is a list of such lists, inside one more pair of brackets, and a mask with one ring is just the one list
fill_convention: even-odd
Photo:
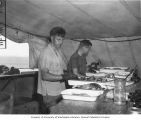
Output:
[[[128,92],[141,89],[141,82],[127,88]],[[62,100],[50,108],[51,114],[128,114],[129,103],[119,106],[101,95],[95,102]]]

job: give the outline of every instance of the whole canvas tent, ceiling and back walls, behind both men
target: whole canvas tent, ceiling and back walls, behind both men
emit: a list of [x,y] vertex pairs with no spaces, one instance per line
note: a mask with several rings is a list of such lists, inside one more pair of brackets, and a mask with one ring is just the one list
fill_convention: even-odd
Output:
[[141,72],[140,5],[140,0],[6,0],[7,37],[28,42],[30,67],[37,67],[50,29],[62,26],[67,59],[86,38],[93,43],[88,63],[100,58],[104,66],[137,65]]

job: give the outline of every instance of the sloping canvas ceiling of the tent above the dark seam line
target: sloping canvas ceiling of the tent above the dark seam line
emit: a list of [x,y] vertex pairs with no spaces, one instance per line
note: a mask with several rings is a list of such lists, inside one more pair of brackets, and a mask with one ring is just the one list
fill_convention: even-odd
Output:
[[54,26],[69,38],[140,36],[140,15],[139,0],[7,0],[7,24],[41,36]]

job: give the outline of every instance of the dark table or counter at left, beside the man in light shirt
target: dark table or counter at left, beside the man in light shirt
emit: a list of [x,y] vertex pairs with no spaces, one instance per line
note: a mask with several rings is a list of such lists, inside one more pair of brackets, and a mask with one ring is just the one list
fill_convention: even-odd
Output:
[[[26,84],[27,82],[30,84]],[[37,82],[37,71],[23,74],[0,75],[0,92],[8,92],[10,94],[12,93],[14,97],[12,114],[39,113],[39,103],[35,99],[37,95]],[[18,86],[19,83],[22,87]],[[23,88],[25,88],[25,85],[26,88],[30,87],[31,89],[23,90]],[[29,94],[27,95],[27,93]]]

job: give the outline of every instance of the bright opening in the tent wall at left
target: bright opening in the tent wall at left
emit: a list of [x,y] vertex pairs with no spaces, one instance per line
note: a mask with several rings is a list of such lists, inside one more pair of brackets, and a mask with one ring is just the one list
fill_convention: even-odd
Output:
[[[3,36],[4,37],[4,36]],[[0,65],[29,68],[28,43],[16,43],[6,38],[7,48],[0,49]]]

